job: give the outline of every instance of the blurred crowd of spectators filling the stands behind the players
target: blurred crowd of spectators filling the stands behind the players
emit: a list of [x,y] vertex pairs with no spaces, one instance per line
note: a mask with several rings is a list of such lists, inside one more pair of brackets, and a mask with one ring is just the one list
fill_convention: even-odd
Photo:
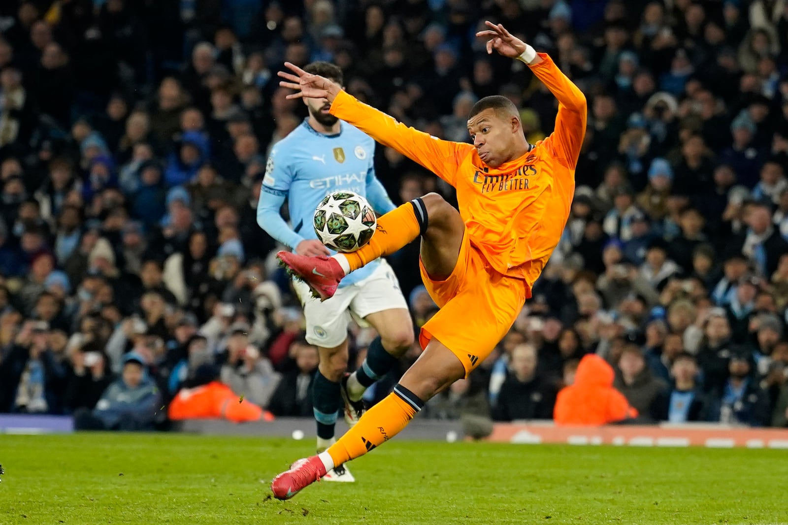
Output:
[[[615,419],[788,426],[786,0],[0,2],[0,412],[311,416],[318,355],[255,218],[267,152],[306,116],[276,72],[333,61],[352,95],[448,140],[505,95],[537,142],[556,101],[485,53],[485,19],[551,54],[589,125],[533,298],[420,417],[484,434],[581,411],[571,386],[623,394]],[[376,169],[396,202],[455,199],[391,149]],[[418,243],[389,262],[418,329]],[[353,330],[351,366],[372,337]]]

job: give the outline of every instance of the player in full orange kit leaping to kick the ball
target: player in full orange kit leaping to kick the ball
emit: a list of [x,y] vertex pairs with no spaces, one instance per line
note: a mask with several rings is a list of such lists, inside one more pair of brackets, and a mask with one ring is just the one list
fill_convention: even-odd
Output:
[[331,114],[377,142],[400,151],[457,190],[459,213],[431,193],[383,215],[358,251],[333,257],[278,257],[323,300],[344,275],[422,236],[420,269],[440,311],[422,327],[424,352],[394,391],[336,444],[298,460],[273,479],[274,497],[288,499],[334,465],[362,456],[403,430],[425,402],[489,356],[530,297],[569,217],[574,167],[585,135],[585,96],[547,54],[537,54],[503,25],[486,22],[477,36],[487,52],[525,62],[560,102],[555,131],[530,144],[515,105],[502,96],[481,99],[470,111],[473,144],[438,140],[362,104],[295,65],[280,72],[284,87],[331,102]]

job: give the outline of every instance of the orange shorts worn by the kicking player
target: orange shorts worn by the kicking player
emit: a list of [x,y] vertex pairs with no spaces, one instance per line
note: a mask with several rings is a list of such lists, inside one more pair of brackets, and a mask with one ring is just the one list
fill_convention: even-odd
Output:
[[457,356],[465,377],[504,338],[528,297],[526,281],[493,270],[463,236],[457,265],[445,281],[434,281],[421,260],[422,281],[440,311],[422,326],[422,348],[435,337]]

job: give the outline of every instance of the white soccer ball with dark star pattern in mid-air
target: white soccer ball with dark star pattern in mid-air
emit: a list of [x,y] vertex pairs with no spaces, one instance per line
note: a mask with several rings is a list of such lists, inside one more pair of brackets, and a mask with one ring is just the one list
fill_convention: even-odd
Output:
[[333,251],[356,251],[370,242],[377,218],[370,203],[354,192],[326,195],[314,210],[314,233]]

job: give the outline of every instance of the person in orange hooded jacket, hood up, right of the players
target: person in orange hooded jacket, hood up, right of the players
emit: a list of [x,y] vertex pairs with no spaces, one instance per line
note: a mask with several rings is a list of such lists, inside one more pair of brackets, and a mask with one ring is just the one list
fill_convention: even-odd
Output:
[[613,388],[614,376],[613,367],[600,356],[584,356],[574,384],[558,393],[556,425],[605,425],[637,417],[637,410]]

